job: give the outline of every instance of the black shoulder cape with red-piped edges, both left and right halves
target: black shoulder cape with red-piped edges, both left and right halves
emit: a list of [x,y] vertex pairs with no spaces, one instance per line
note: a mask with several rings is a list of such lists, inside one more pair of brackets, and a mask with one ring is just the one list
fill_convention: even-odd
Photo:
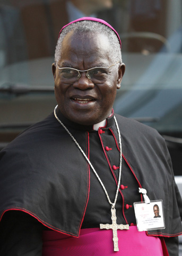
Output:
[[[151,127],[116,118],[123,153],[137,179],[151,200],[163,199],[166,228],[148,235],[182,234],[182,201],[164,140]],[[85,132],[72,134],[86,153]],[[53,114],[20,134],[0,159],[1,218],[6,211],[20,210],[53,230],[79,236],[89,198],[88,163]]]

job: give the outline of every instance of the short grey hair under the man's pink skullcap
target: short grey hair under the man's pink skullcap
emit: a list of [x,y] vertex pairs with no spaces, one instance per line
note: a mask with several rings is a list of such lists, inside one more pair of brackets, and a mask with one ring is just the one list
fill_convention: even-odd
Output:
[[79,22],[72,23],[71,25],[65,27],[62,30],[62,33],[60,33],[60,36],[57,41],[56,45],[56,51],[55,51],[55,62],[58,63],[58,61],[61,58],[61,49],[62,49],[62,42],[64,37],[70,32],[70,31],[78,31],[80,35],[85,35],[85,33],[99,33],[99,34],[105,34],[110,42],[110,58],[113,62],[119,61],[122,63],[122,51],[120,49],[120,43],[117,35],[115,32],[107,27],[106,25],[96,22],[96,21],[90,21],[90,20],[83,20]]

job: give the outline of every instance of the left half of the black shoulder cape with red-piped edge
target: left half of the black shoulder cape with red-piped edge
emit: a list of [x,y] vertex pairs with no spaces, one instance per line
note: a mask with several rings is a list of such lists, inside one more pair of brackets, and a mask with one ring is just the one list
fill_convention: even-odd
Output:
[[[85,134],[79,135],[86,145]],[[0,176],[1,214],[24,210],[45,226],[79,235],[89,195],[88,164],[53,115],[1,152]],[[78,186],[83,193],[77,193]]]

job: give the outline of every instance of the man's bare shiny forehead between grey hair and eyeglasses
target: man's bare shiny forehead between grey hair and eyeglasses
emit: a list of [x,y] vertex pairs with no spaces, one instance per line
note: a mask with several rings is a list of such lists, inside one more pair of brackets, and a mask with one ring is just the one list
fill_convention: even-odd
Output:
[[110,42],[105,34],[78,33],[70,31],[63,39],[61,60],[74,59],[74,61],[111,61]]

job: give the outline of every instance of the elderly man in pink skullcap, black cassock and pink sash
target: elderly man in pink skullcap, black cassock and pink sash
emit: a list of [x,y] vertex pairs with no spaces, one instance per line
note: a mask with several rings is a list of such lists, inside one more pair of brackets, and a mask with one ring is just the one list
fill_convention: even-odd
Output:
[[[178,255],[181,198],[166,145],[112,109],[120,46],[103,20],[60,31],[58,106],[1,152],[1,255]],[[149,198],[163,201],[165,226],[137,231],[133,204]]]

